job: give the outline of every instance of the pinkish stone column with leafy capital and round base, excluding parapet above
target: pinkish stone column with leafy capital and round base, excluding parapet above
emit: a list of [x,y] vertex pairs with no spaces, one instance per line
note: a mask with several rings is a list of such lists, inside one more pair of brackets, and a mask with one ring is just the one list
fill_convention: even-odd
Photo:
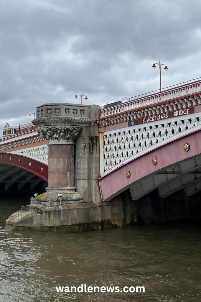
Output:
[[75,192],[74,185],[74,145],[80,127],[39,127],[41,137],[49,140],[48,148],[48,187],[37,201],[49,206],[60,203],[82,202],[82,196]]

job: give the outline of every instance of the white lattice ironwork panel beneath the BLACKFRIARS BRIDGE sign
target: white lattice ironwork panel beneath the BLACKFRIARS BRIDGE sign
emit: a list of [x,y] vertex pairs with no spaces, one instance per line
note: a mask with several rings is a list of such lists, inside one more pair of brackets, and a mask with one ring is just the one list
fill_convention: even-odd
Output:
[[140,151],[200,124],[201,117],[195,117],[105,135],[103,138],[104,172]]

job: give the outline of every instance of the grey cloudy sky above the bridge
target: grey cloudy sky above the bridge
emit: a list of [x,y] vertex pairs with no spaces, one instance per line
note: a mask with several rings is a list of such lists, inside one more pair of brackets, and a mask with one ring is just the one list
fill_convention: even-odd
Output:
[[[0,0],[0,127],[201,77],[200,0]],[[1,134],[0,134],[1,136]]]

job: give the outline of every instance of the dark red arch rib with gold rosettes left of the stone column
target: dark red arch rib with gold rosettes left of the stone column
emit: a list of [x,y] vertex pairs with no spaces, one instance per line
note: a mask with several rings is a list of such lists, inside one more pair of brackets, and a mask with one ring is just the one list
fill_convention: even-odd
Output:
[[47,182],[48,180],[48,165],[38,162],[35,159],[30,159],[26,156],[20,156],[11,153],[0,153],[0,164],[8,164],[27,170]]

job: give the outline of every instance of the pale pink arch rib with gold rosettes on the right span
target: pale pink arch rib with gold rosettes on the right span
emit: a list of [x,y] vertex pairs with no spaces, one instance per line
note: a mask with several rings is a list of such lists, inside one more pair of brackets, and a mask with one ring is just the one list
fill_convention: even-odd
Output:
[[[190,144],[190,150],[184,151],[184,144]],[[132,161],[120,166],[113,172],[99,179],[102,201],[110,200],[118,192],[129,188],[136,182],[148,175],[156,174],[160,169],[176,164],[185,159],[197,156],[201,153],[201,130],[190,133],[185,137],[180,137],[166,145],[137,157]],[[153,165],[152,158],[156,157],[158,162]],[[130,171],[130,178],[126,177],[126,172]]]

